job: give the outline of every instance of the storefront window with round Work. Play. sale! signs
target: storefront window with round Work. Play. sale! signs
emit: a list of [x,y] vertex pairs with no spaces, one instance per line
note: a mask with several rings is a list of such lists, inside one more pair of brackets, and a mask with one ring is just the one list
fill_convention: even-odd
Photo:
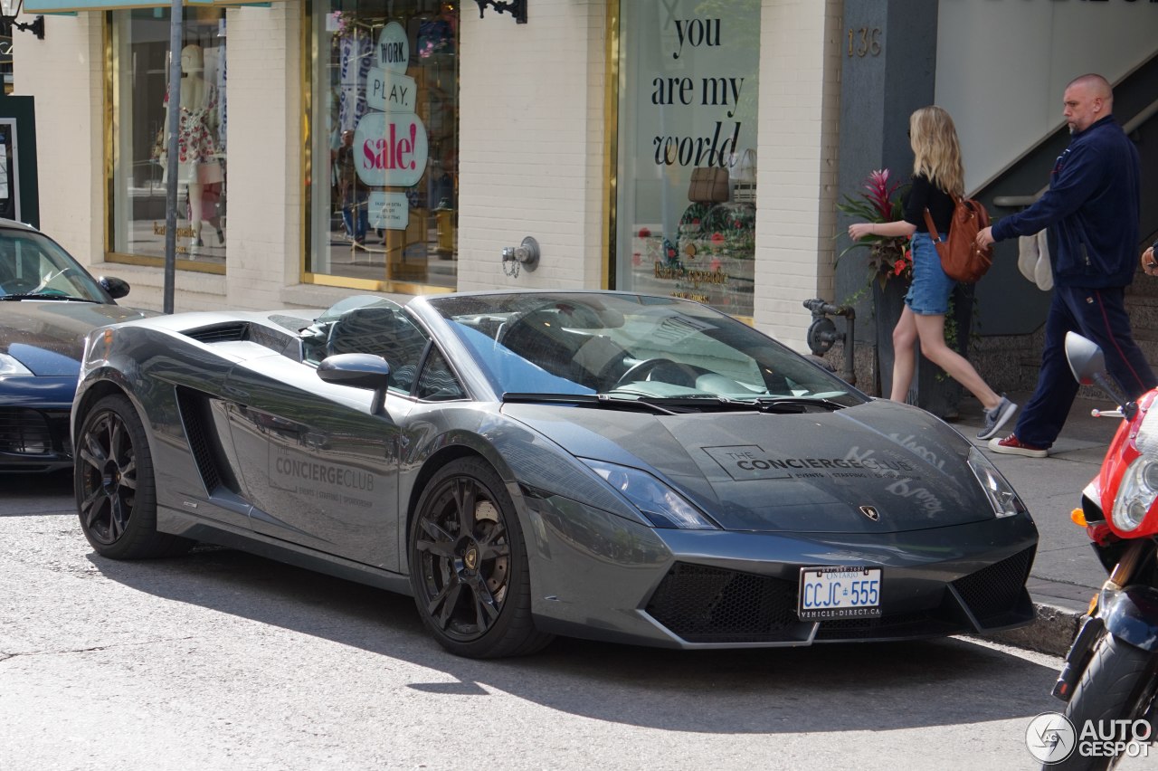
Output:
[[456,3],[321,0],[312,20],[307,272],[453,288]]

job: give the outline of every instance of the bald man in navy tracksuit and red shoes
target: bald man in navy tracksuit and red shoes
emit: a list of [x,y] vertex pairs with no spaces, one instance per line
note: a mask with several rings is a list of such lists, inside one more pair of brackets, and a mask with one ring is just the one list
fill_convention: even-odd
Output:
[[1038,386],[1013,433],[989,441],[995,453],[1049,454],[1078,391],[1065,361],[1071,330],[1101,346],[1109,374],[1127,397],[1155,387],[1123,300],[1138,254],[1141,167],[1113,109],[1114,93],[1105,78],[1071,81],[1062,109],[1070,146],[1054,163],[1049,190],[1033,206],[977,234],[977,244],[985,247],[1048,228],[1054,272]]

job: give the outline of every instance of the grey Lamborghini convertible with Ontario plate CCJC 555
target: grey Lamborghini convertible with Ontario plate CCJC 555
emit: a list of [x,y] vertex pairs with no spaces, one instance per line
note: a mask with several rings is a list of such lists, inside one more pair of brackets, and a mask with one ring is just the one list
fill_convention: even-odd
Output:
[[468,656],[552,634],[809,645],[1028,623],[1038,533],[945,423],[698,303],[354,296],[89,335],[85,535],[413,595]]

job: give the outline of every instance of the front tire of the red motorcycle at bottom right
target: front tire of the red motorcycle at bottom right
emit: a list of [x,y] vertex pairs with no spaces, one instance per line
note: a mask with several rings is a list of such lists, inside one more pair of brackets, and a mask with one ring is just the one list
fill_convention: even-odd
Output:
[[[1073,752],[1061,763],[1042,769],[1058,771],[1102,771],[1117,765],[1121,757],[1086,757],[1080,752],[1082,729],[1086,721],[1149,719],[1155,721],[1158,695],[1158,655],[1104,633],[1094,642],[1090,666],[1073,689],[1065,717],[1073,725]],[[1153,733],[1151,733],[1151,736]],[[1126,740],[1129,740],[1127,736]]]

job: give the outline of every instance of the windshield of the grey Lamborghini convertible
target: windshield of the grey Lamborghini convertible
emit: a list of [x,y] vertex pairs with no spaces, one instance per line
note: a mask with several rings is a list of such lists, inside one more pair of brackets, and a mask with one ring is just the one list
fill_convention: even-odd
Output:
[[779,343],[695,302],[543,293],[446,296],[430,303],[504,394],[864,401]]

